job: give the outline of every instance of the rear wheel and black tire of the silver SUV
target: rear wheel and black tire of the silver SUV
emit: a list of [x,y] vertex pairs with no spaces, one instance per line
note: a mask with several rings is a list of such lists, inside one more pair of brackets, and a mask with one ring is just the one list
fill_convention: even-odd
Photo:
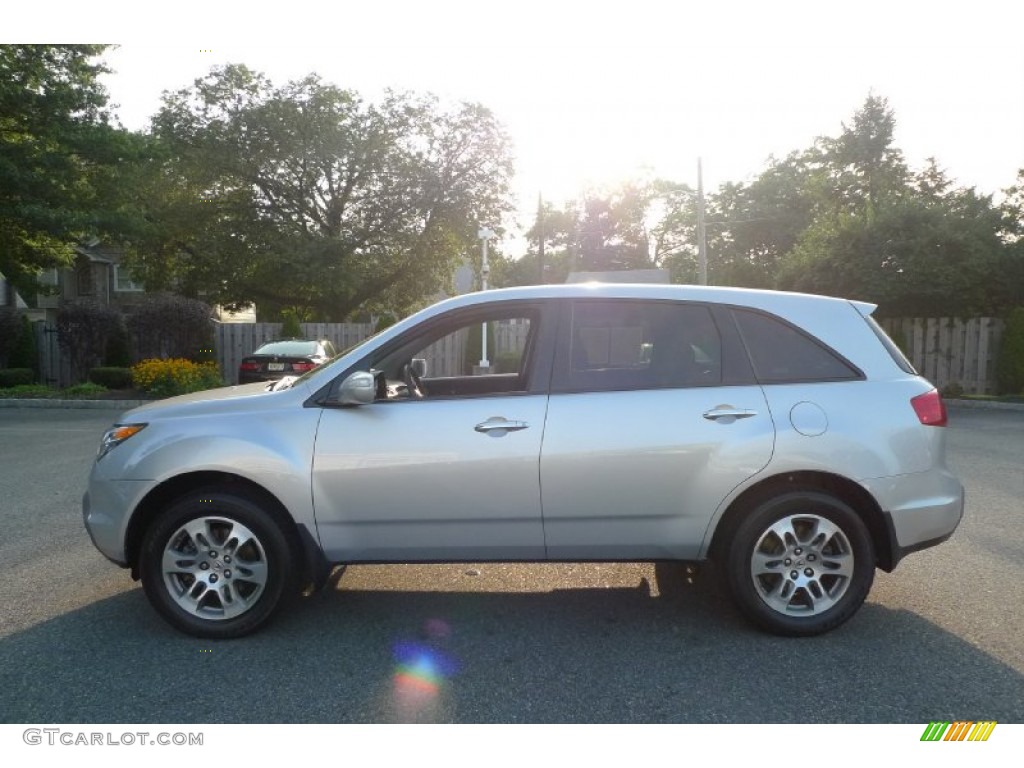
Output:
[[740,612],[776,635],[828,632],[860,608],[874,581],[874,551],[860,516],[816,490],[761,503],[733,532],[726,579]]

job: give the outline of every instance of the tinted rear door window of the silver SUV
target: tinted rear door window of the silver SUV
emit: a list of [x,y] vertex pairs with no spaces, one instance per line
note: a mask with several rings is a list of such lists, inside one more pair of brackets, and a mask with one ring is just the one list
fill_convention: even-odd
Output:
[[711,313],[700,305],[580,301],[559,383],[573,390],[719,384],[721,347]]

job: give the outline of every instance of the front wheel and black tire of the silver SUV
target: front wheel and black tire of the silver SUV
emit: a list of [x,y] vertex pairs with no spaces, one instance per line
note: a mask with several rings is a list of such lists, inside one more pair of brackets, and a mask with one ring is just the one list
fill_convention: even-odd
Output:
[[297,591],[298,562],[264,502],[207,488],[178,499],[142,540],[141,578],[154,608],[195,637],[255,632]]

